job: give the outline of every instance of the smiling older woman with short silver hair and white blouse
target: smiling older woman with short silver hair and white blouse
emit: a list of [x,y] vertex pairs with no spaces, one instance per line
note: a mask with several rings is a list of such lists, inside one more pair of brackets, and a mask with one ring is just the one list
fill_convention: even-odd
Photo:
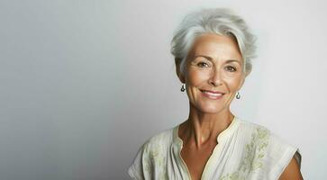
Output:
[[231,11],[186,16],[171,51],[189,116],[141,147],[129,168],[133,179],[302,179],[297,148],[230,110],[254,50],[253,35]]

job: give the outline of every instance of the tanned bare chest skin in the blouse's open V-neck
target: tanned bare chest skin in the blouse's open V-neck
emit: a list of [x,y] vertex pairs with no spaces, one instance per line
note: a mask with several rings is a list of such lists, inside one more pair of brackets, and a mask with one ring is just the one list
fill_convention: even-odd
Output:
[[[213,153],[213,148],[217,145],[216,142],[204,144],[201,148],[196,148],[194,145],[186,144],[181,151],[181,157],[186,163],[189,174],[192,180],[200,180],[204,172],[204,166],[209,157]],[[187,149],[187,150],[186,150]]]

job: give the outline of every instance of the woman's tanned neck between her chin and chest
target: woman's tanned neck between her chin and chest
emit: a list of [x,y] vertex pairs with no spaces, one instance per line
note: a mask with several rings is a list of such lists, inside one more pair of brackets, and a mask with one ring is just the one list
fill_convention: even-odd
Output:
[[205,113],[190,105],[188,120],[181,135],[186,141],[195,143],[196,148],[207,143],[217,143],[217,136],[228,128],[233,117],[228,108],[218,113]]

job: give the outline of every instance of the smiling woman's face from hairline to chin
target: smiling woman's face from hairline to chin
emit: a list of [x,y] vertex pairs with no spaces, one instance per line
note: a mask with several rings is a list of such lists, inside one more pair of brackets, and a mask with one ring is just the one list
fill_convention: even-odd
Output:
[[186,73],[180,77],[191,105],[206,113],[229,110],[245,78],[237,42],[205,34],[195,40],[186,59]]

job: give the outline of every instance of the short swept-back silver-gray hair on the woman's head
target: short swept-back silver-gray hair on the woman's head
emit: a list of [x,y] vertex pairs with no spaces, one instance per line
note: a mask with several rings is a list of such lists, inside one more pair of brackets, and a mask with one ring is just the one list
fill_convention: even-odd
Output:
[[186,57],[194,41],[205,33],[230,36],[235,39],[241,50],[243,70],[246,75],[252,69],[251,59],[255,58],[255,36],[245,21],[229,9],[204,9],[186,15],[179,24],[171,40],[171,53],[179,64],[180,72],[185,73]]

